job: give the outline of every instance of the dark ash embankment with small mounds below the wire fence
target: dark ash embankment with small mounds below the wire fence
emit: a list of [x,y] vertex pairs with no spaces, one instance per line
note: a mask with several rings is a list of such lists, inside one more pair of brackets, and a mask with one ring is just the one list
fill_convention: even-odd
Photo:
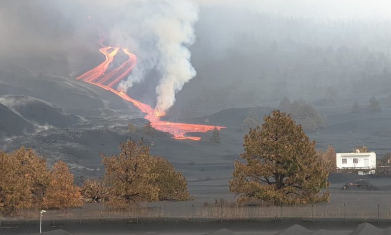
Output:
[[[13,224],[6,223],[0,229],[1,234],[36,234],[39,232],[39,221],[31,221],[30,224],[13,221]],[[315,220],[303,221],[291,219],[268,222],[249,221],[222,221],[222,222],[142,222],[133,223],[126,219],[107,221],[86,221],[79,224],[79,221],[67,220],[58,221],[51,225],[48,221],[42,223],[42,234],[46,235],[98,235],[98,234],[209,234],[209,235],[243,235],[243,234],[317,234],[317,235],[364,235],[364,234],[391,234],[390,223],[360,223],[357,221],[328,221]]]

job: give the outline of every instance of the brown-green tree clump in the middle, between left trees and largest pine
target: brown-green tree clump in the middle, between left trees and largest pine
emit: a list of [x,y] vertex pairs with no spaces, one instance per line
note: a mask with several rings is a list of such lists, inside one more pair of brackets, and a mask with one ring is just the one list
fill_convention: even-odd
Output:
[[104,156],[108,204],[128,207],[144,201],[187,200],[187,182],[165,159],[150,155],[142,141],[120,144],[118,155]]

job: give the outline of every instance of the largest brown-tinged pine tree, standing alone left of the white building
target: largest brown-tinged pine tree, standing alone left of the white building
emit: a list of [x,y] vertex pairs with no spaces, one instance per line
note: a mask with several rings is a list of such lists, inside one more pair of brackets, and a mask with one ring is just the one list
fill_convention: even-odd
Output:
[[239,202],[268,204],[328,201],[327,170],[301,125],[280,111],[264,117],[262,127],[244,136],[246,163],[235,161],[230,191]]

